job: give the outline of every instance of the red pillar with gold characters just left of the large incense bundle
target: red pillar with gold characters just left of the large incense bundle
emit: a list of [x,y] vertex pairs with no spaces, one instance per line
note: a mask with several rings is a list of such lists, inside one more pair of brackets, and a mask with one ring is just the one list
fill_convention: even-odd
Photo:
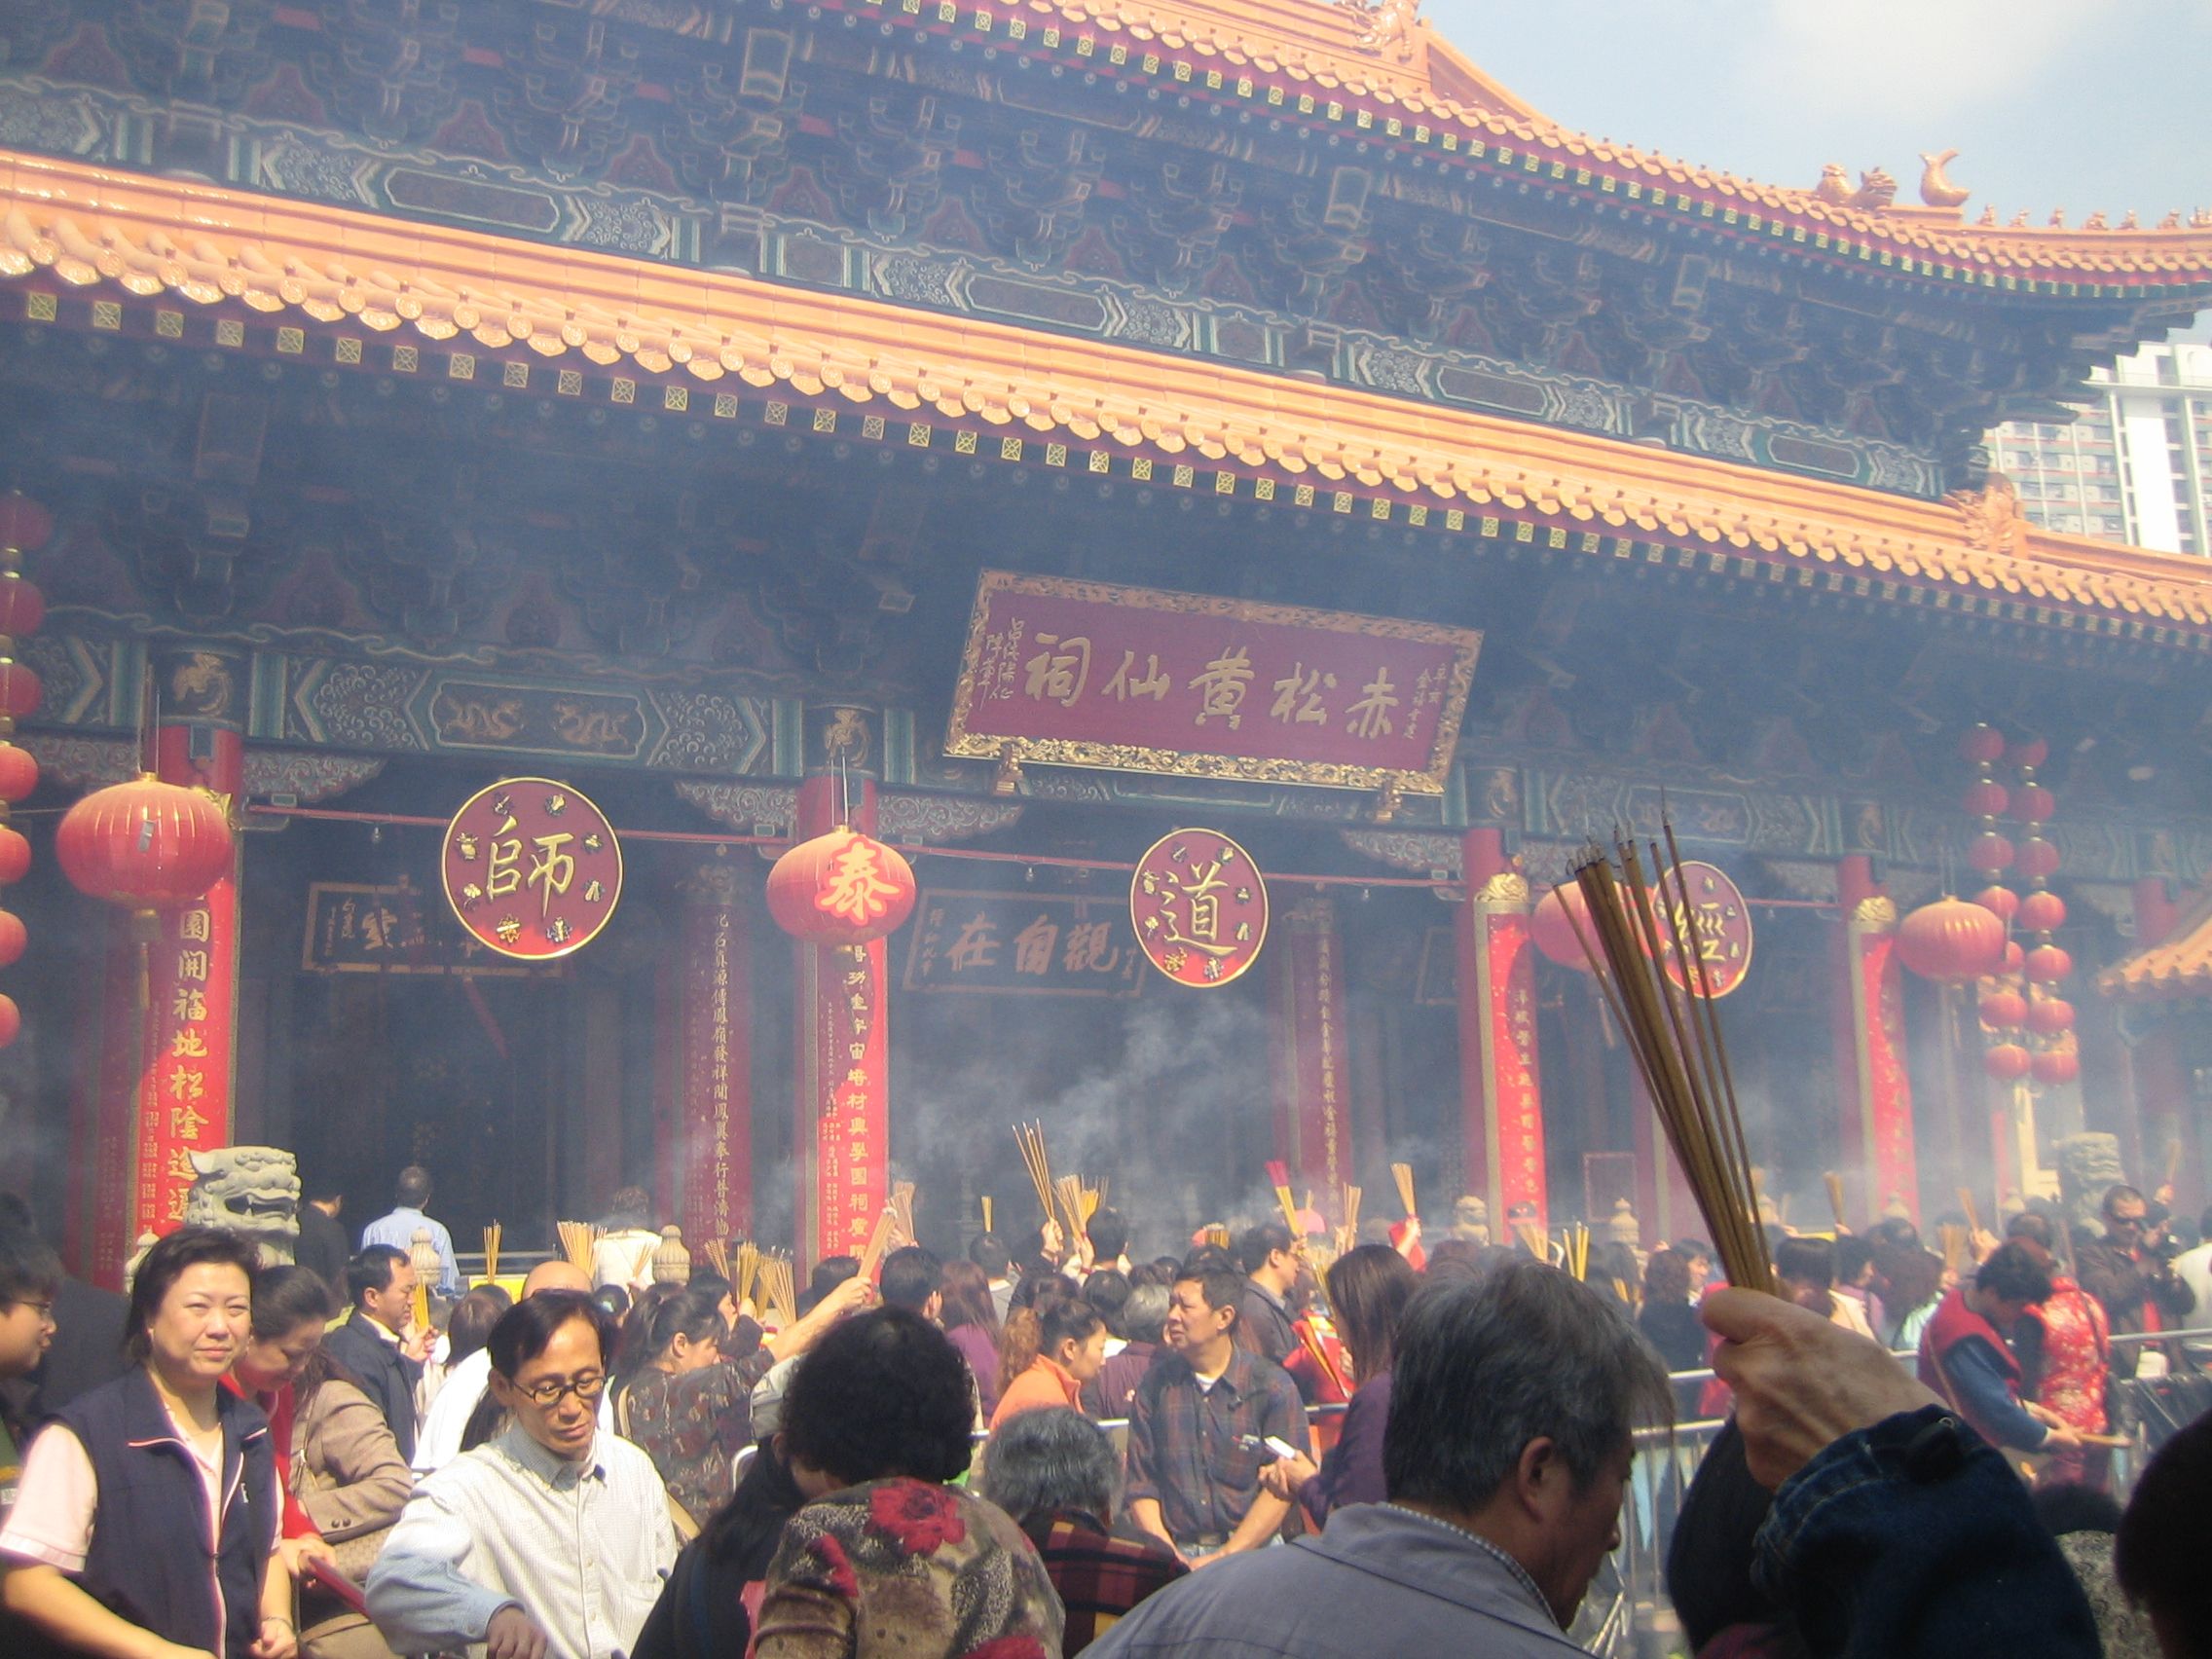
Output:
[[1504,834],[1498,830],[1469,830],[1462,865],[1467,902],[1458,916],[1458,951],[1464,1186],[1491,1206],[1491,1239],[1509,1243],[1515,1203],[1533,1203],[1537,1223],[1548,1225],[1528,883],[1506,858]]

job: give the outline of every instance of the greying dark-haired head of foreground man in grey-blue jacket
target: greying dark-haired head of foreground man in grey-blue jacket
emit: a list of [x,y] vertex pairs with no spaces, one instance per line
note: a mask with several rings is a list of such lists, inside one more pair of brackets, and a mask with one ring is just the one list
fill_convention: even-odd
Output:
[[1422,1290],[1391,1376],[1391,1502],[1498,1544],[1566,1628],[1619,1540],[1630,1431],[1672,1418],[1666,1365],[1617,1301],[1517,1261]]

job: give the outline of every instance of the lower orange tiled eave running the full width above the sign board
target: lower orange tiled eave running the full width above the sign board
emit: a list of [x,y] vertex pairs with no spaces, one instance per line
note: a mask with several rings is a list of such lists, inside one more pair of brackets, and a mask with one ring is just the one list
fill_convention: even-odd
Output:
[[[2181,644],[2212,646],[2212,564],[1947,502],[728,272],[0,153],[0,276],[40,272],[316,323],[341,347],[352,341],[338,361],[363,361],[361,343],[385,334],[675,385],[732,376],[832,409],[1093,445],[1093,456],[1124,456],[1124,476],[1150,476],[1159,456],[1192,487],[1203,465],[1225,495],[1239,478],[1305,480],[1336,511],[1356,495],[1374,518],[1427,522],[1442,509],[1449,529],[1460,518],[1469,529],[1546,524],[1548,546],[1626,557],[1632,542],[1672,544],[1710,568],[1736,560],[1756,573],[1756,560],[1878,597],[1933,588],[1938,604],[2059,626],[2086,617],[2108,633],[2172,628]],[[93,323],[119,325],[97,310]],[[635,383],[617,383],[617,396],[622,385],[635,398]],[[998,445],[1020,458],[1020,436]],[[1272,489],[1245,482],[1245,495]]]

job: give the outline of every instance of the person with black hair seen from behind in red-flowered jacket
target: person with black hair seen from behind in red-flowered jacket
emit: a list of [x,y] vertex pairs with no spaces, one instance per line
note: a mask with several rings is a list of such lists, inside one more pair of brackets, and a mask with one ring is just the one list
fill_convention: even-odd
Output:
[[812,1500],[783,1528],[757,1659],[1057,1659],[1062,1606],[1000,1509],[945,1482],[969,1467],[967,1365],[898,1307],[845,1321],[783,1402]]

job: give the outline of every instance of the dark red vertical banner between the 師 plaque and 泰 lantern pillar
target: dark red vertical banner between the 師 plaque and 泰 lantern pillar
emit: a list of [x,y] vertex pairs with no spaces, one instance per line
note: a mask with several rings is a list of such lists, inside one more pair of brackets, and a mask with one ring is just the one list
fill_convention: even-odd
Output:
[[686,883],[684,982],[684,1237],[752,1237],[750,978],[737,872],[706,865]]

